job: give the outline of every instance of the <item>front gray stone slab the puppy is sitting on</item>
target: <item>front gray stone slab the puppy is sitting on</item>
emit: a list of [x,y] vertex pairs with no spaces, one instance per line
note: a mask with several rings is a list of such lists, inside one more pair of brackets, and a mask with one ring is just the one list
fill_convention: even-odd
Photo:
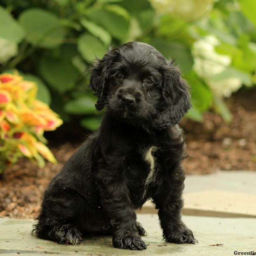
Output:
[[[120,250],[112,247],[111,237],[85,237],[82,244],[59,245],[30,235],[32,220],[0,218],[0,254],[6,256],[47,254],[60,255],[170,255],[170,256],[231,256],[234,251],[256,252],[256,221],[251,218],[211,218],[184,216],[199,244],[170,244],[162,241],[155,214],[139,214],[145,227],[148,244],[145,251]],[[222,244],[222,245],[216,245]]]

